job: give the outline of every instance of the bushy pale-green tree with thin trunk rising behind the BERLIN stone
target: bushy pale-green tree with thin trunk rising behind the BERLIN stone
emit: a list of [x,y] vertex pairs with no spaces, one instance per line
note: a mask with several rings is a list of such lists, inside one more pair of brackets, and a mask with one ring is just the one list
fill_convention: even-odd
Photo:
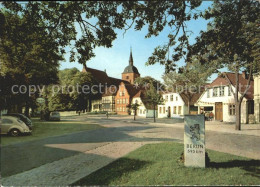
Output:
[[179,72],[170,72],[163,75],[165,85],[170,91],[182,94],[188,103],[190,113],[191,99],[195,94],[204,91],[208,77],[215,71],[214,66],[202,65],[194,56],[192,61],[180,68]]

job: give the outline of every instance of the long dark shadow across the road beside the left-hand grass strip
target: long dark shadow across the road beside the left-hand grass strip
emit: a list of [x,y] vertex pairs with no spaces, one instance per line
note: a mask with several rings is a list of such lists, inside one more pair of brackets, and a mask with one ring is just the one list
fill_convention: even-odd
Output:
[[138,138],[127,134],[131,131],[148,130],[151,128],[156,127],[125,126],[103,128],[4,146],[0,150],[1,175],[2,177],[11,176],[80,153],[77,147],[75,150],[65,150],[47,146],[51,144],[72,144],[71,146],[75,147],[77,146],[76,144],[80,143],[93,143],[91,148],[84,147],[84,150],[81,150],[84,152],[105,145],[107,142],[179,141],[170,138]]

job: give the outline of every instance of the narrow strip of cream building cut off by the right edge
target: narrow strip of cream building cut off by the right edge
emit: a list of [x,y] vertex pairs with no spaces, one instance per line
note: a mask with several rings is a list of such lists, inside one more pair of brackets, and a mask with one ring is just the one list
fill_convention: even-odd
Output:
[[254,75],[255,121],[260,123],[260,72]]

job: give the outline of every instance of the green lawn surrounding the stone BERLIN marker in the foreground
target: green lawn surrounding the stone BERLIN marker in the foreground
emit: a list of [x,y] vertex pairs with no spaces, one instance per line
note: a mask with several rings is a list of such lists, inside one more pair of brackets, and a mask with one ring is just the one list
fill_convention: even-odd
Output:
[[73,185],[259,185],[260,160],[207,150],[210,166],[186,168],[183,144],[145,145]]

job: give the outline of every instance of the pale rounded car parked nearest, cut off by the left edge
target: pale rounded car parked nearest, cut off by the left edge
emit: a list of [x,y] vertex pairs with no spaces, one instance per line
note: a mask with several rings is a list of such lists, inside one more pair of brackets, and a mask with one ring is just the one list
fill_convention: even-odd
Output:
[[1,117],[1,134],[10,134],[11,136],[19,136],[20,134],[29,134],[32,131],[19,118],[13,116]]

